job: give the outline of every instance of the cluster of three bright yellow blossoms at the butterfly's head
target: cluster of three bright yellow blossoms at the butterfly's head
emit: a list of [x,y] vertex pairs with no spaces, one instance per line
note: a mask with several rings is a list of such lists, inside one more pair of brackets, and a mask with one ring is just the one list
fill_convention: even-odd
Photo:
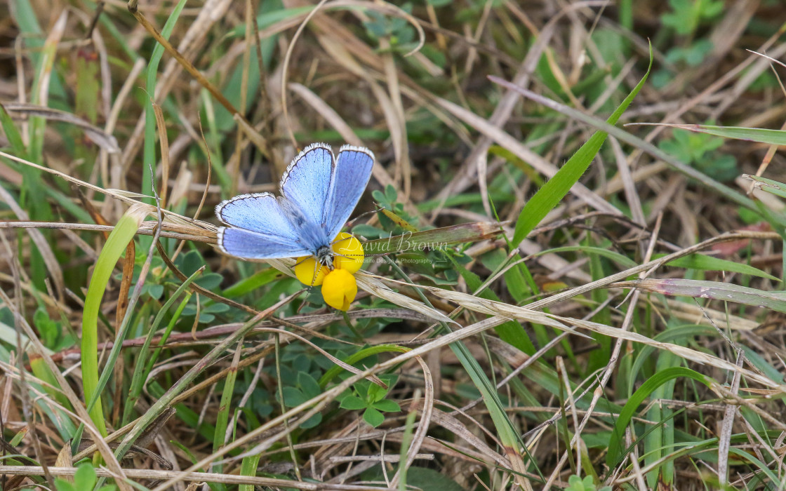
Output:
[[297,259],[295,276],[309,286],[322,285],[322,298],[329,306],[339,310],[349,309],[358,295],[354,273],[363,266],[363,245],[355,236],[342,232],[333,240],[333,269],[318,264],[314,256]]

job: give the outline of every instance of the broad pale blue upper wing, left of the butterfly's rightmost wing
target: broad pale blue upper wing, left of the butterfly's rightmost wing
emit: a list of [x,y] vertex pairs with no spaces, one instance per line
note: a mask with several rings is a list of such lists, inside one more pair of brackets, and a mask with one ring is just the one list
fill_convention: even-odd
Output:
[[330,147],[314,143],[300,152],[281,176],[281,195],[294,205],[306,222],[322,223],[335,167]]

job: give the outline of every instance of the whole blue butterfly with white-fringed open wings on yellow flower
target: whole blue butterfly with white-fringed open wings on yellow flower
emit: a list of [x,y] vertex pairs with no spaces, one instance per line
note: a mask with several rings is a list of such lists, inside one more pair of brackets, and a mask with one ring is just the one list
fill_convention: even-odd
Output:
[[219,248],[249,259],[313,255],[332,266],[332,241],[341,232],[369,183],[374,154],[343,145],[314,143],[292,160],[281,176],[281,196],[241,194],[215,207]]

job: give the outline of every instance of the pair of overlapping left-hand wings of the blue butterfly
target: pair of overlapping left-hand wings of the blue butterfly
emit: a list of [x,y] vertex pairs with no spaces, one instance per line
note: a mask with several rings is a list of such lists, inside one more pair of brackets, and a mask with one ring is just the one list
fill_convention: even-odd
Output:
[[240,258],[273,259],[310,254],[298,229],[269,192],[243,194],[215,207],[219,248]]

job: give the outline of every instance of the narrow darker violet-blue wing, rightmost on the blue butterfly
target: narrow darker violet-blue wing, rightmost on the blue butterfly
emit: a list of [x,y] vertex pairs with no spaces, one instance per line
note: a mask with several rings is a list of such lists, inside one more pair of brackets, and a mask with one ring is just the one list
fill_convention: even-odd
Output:
[[363,196],[373,167],[374,154],[368,148],[351,145],[341,147],[322,220],[330,240],[339,234]]

